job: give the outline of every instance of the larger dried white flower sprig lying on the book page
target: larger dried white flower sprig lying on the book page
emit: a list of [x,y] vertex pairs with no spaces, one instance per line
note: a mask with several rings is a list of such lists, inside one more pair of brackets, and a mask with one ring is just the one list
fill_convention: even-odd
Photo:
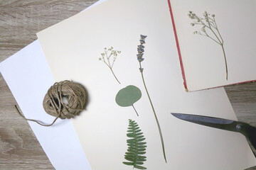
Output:
[[196,13],[189,11],[188,17],[191,18],[193,21],[193,23],[191,23],[191,26],[201,26],[201,30],[196,30],[193,32],[193,34],[208,37],[221,46],[225,60],[226,80],[228,80],[228,64],[225,56],[225,50],[223,47],[223,38],[220,35],[220,31],[218,30],[218,26],[215,21],[215,14],[210,14],[205,11],[203,13],[203,18],[201,18],[197,16]]

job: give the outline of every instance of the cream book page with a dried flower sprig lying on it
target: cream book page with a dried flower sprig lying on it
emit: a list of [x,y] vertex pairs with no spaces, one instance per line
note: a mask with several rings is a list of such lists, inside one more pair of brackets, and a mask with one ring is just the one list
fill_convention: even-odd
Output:
[[256,80],[254,0],[170,0],[188,91]]

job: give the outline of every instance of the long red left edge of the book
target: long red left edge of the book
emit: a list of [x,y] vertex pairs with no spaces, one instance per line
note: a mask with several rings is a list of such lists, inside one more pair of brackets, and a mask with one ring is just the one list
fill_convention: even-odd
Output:
[[173,12],[171,10],[171,2],[170,2],[170,0],[168,0],[168,4],[169,4],[169,11],[171,13],[171,23],[173,25],[174,36],[175,36],[176,46],[177,46],[177,50],[178,50],[178,59],[180,61],[180,65],[181,65],[181,74],[182,74],[182,78],[183,78],[183,85],[185,87],[185,90],[188,91],[188,87],[187,87],[187,84],[186,84],[186,76],[185,76],[183,62],[182,62],[182,58],[181,58],[181,50],[180,50],[180,47],[178,45],[178,35],[177,35],[177,32],[176,32],[176,27],[175,27],[175,23],[174,23],[174,14],[173,14]]

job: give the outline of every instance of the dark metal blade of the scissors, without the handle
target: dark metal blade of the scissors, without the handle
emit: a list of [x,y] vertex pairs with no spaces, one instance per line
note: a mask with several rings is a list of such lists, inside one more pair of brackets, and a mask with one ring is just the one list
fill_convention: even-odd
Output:
[[196,123],[199,125],[205,125],[211,128],[218,128],[221,130],[230,130],[233,132],[238,132],[237,125],[239,124],[238,121],[235,120],[227,120],[223,118],[213,118],[203,115],[189,115],[183,113],[171,113],[176,118],[181,120],[185,120],[191,123]]

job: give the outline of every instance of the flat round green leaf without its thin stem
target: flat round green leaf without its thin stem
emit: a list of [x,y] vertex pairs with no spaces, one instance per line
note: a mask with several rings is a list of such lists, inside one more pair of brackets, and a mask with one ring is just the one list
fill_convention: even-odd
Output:
[[142,91],[137,86],[127,86],[118,91],[115,101],[119,106],[132,106],[142,97]]

